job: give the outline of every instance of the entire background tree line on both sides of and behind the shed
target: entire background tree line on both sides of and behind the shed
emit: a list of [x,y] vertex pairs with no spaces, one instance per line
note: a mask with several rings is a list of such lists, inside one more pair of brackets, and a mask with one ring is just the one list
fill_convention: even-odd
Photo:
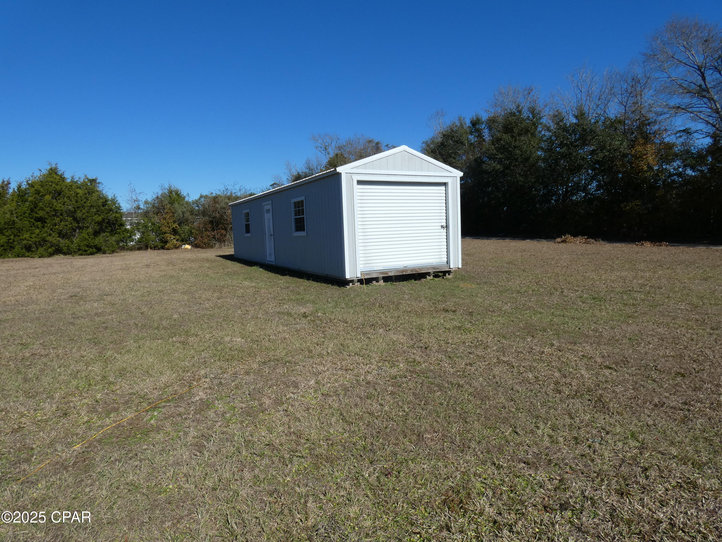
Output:
[[[464,172],[466,235],[722,240],[718,25],[672,18],[626,69],[584,67],[545,100],[501,87],[483,113],[430,121],[421,150]],[[287,162],[269,188],[393,147],[363,134],[310,139],[316,155]],[[0,257],[230,246],[227,204],[252,194],[225,186],[190,199],[168,184],[142,199],[131,186],[124,219],[97,178],[49,165],[14,187],[0,181]]]

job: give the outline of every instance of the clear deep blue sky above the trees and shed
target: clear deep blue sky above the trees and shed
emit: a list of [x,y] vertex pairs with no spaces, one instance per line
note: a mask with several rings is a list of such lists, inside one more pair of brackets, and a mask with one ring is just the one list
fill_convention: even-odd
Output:
[[0,2],[0,177],[48,162],[122,199],[265,186],[313,132],[419,148],[437,109],[624,66],[722,1]]

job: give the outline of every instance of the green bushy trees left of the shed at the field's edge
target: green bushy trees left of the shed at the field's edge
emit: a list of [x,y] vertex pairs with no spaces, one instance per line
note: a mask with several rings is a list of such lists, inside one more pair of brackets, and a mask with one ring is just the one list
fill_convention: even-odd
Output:
[[58,165],[49,165],[13,189],[9,180],[0,182],[0,257],[230,246],[228,204],[252,194],[225,186],[191,200],[168,184],[141,199],[131,186],[123,212],[97,178],[68,177]]

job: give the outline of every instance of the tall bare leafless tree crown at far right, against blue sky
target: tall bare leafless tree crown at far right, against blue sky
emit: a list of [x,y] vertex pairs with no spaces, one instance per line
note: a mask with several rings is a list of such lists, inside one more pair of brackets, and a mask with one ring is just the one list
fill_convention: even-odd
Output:
[[698,18],[673,17],[649,39],[645,64],[658,106],[703,137],[722,133],[722,31]]

